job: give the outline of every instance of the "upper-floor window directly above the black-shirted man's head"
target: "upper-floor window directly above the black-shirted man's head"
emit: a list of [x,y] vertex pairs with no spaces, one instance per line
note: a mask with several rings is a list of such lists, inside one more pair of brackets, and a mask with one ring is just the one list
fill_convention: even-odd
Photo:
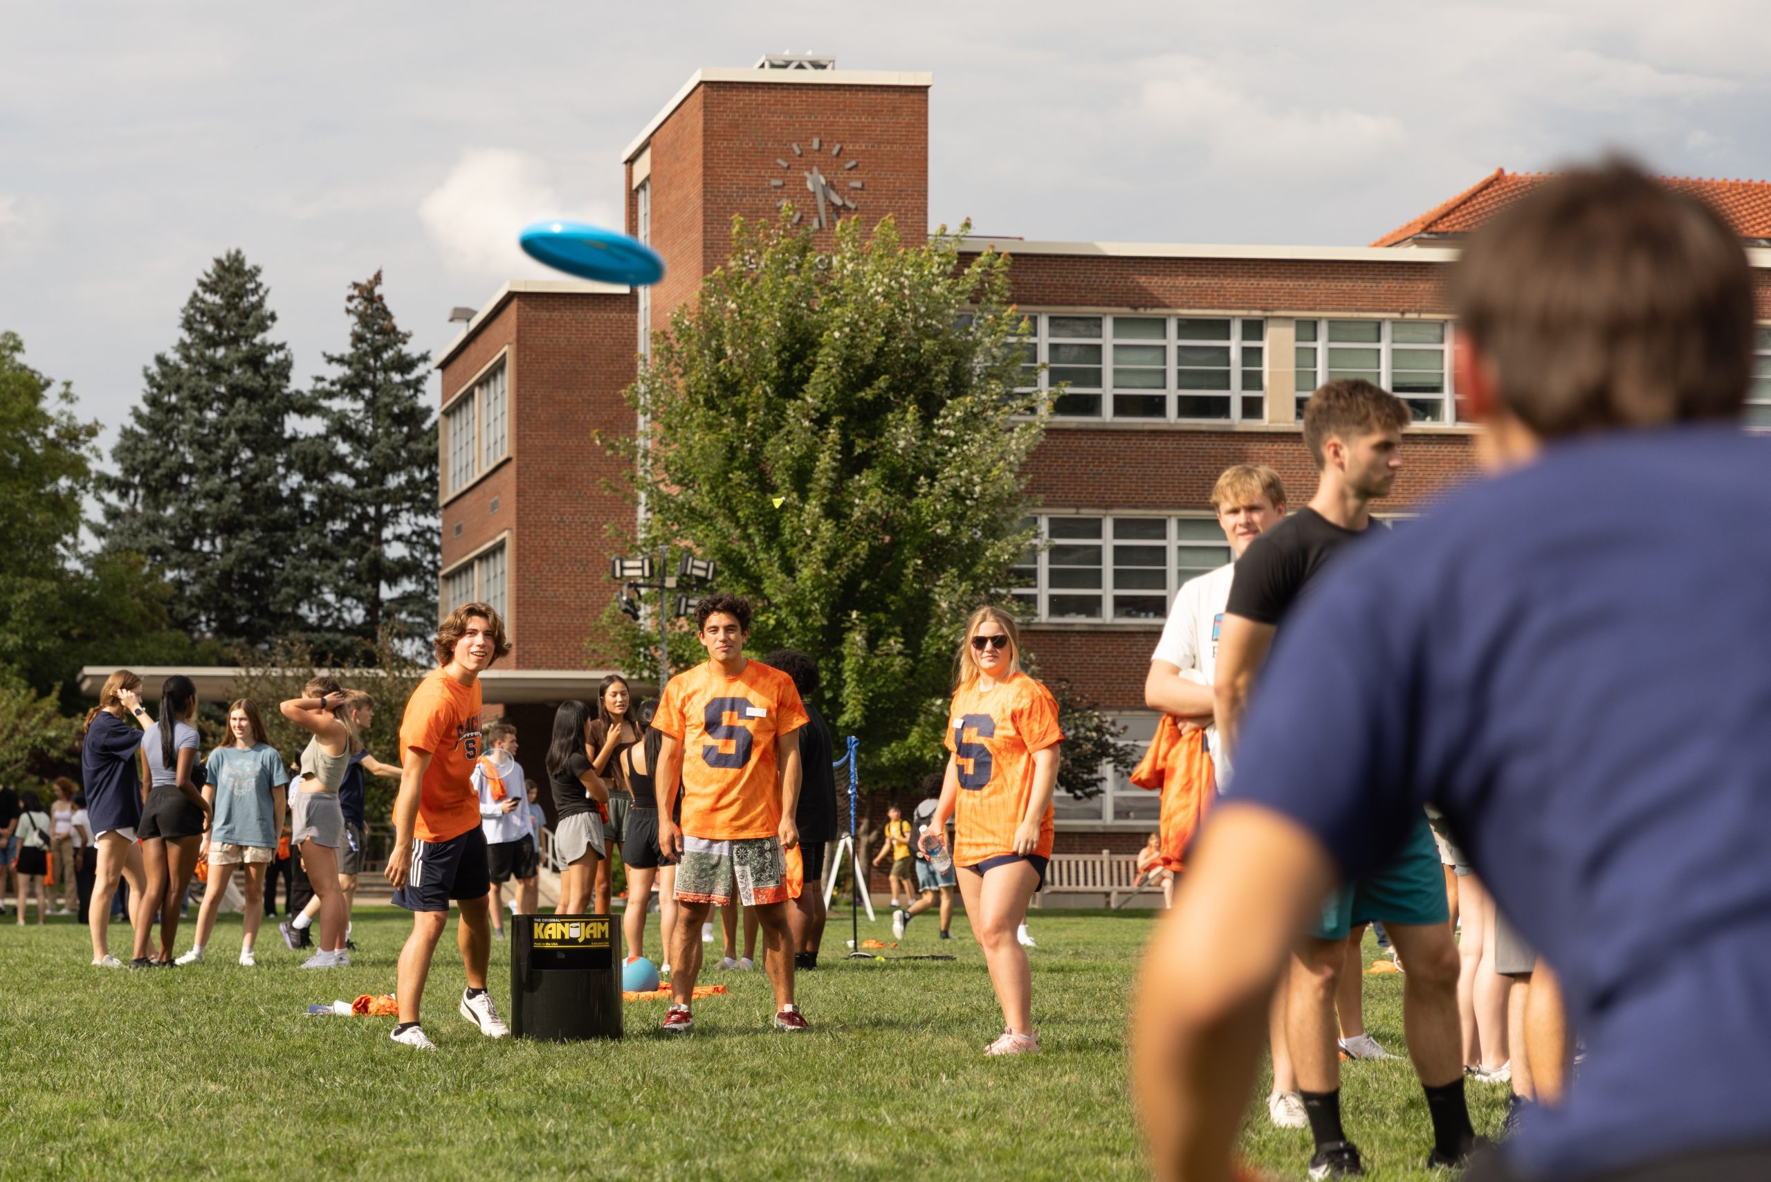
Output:
[[1298,321],[1296,416],[1316,386],[1364,377],[1408,404],[1417,424],[1454,422],[1447,321]]

